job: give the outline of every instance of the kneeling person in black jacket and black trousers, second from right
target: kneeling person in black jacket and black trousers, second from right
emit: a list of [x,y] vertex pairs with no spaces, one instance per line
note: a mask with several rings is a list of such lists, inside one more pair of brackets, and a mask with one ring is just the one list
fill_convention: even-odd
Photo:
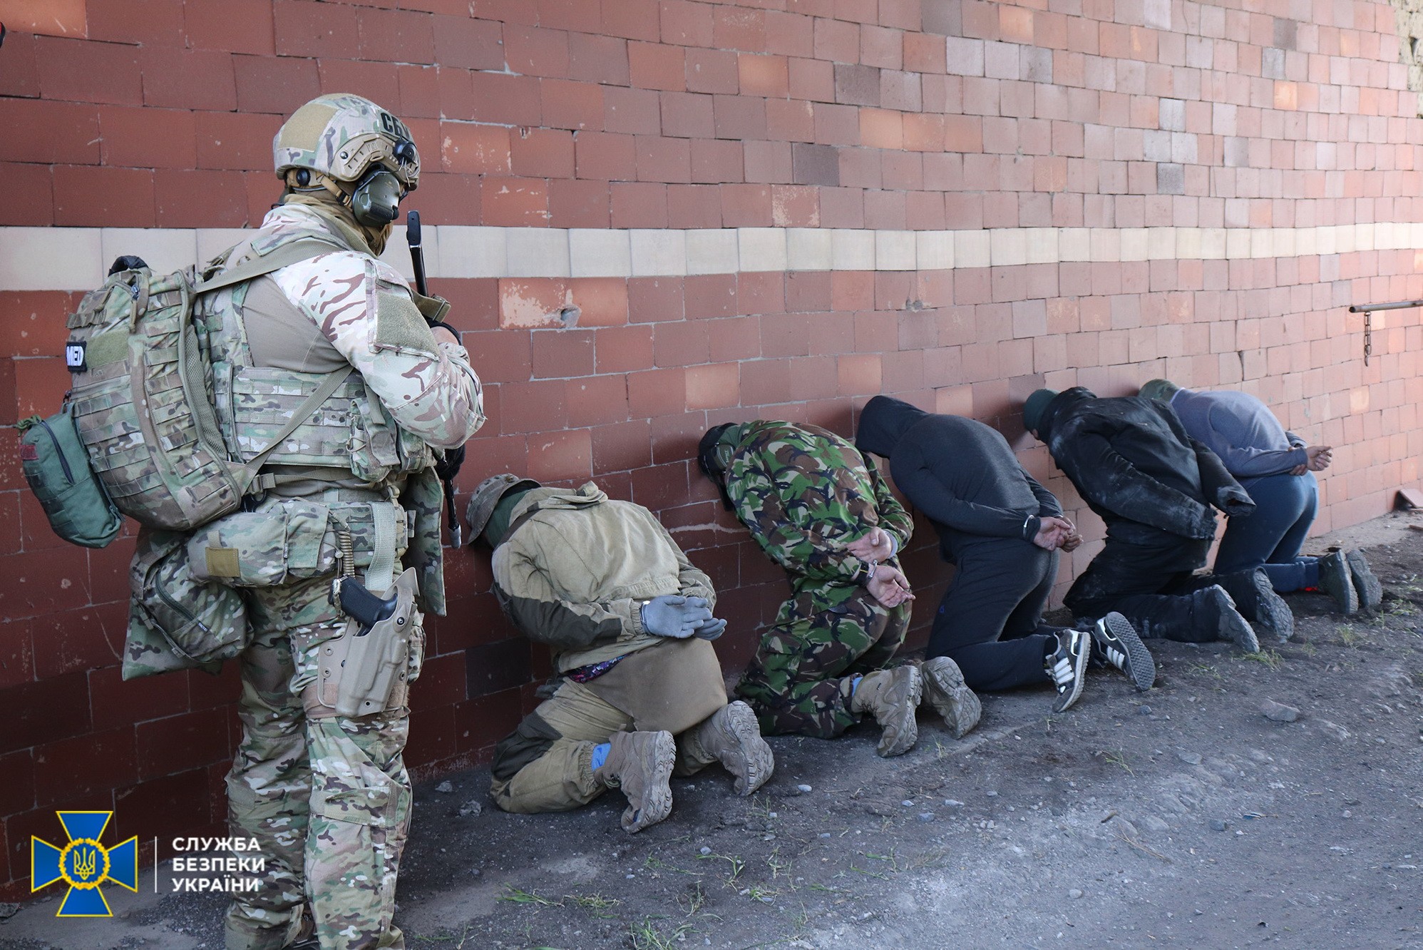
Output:
[[1192,574],[1215,537],[1214,508],[1248,517],[1255,503],[1170,406],[1099,399],[1081,386],[1039,389],[1023,426],[1107,524],[1106,547],[1064,598],[1073,614],[1116,610],[1144,638],[1229,640],[1251,652],[1259,641],[1247,620],[1289,637],[1289,608],[1262,573]]

